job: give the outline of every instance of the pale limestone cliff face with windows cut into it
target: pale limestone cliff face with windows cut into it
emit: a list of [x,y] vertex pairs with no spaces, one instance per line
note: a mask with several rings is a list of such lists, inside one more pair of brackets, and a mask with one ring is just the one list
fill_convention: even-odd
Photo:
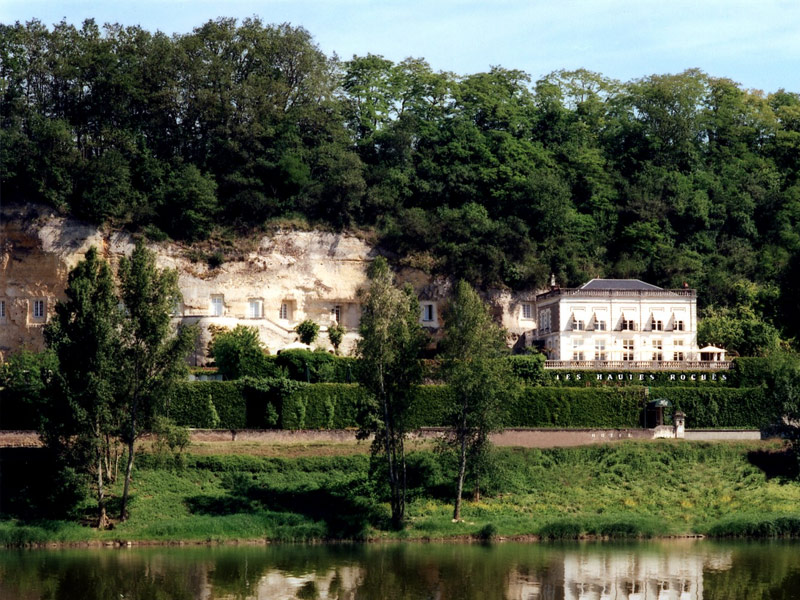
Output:
[[[40,207],[3,208],[0,219],[0,355],[20,348],[40,350],[42,326],[55,302],[64,299],[69,270],[91,246],[116,267],[132,251],[133,240]],[[347,329],[341,350],[352,352],[361,317],[358,291],[366,286],[369,263],[378,255],[359,237],[320,231],[264,236],[216,268],[196,260],[198,253],[182,244],[150,247],[160,267],[178,271],[183,303],[176,307],[176,322],[200,325],[201,338],[191,357],[196,365],[207,360],[210,325],[255,327],[274,353],[297,342],[294,327],[305,319],[320,325],[316,345],[331,349],[327,328],[339,322]],[[399,272],[398,281],[414,287],[423,325],[437,332],[451,282],[411,269]],[[508,329],[509,342],[524,342],[533,323],[522,318],[522,304],[532,302],[533,293],[491,291],[486,298]]]

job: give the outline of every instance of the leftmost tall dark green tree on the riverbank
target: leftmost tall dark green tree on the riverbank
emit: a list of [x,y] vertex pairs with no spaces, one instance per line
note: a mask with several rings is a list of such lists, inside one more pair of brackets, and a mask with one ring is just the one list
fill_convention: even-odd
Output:
[[58,358],[58,373],[43,407],[40,433],[69,468],[94,477],[97,527],[105,529],[103,455],[106,435],[115,426],[121,313],[111,268],[96,248],[70,271],[66,296],[44,332]]

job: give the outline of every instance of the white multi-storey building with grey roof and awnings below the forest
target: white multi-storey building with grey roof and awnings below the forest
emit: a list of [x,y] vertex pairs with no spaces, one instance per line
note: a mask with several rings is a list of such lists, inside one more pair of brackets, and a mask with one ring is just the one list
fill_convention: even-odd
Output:
[[536,297],[535,306],[534,339],[550,367],[712,366],[700,364],[696,290],[592,279],[579,288],[552,286]]

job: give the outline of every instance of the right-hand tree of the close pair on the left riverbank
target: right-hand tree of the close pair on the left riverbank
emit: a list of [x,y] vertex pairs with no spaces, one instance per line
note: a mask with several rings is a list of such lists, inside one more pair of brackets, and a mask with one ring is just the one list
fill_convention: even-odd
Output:
[[119,280],[124,310],[116,406],[122,418],[120,438],[128,447],[120,508],[120,519],[125,520],[134,443],[164,412],[173,384],[185,378],[186,356],[195,345],[197,330],[173,329],[170,315],[181,300],[178,273],[158,269],[155,253],[143,242],[136,244],[130,259],[120,261]]

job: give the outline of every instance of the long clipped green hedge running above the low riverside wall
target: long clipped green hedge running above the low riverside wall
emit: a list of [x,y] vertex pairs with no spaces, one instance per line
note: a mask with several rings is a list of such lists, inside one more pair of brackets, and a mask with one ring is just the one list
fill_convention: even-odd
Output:
[[[507,405],[508,427],[640,427],[644,387],[523,387]],[[441,426],[449,389],[418,388],[412,427]],[[762,388],[653,387],[687,415],[691,428],[755,428],[779,421],[779,406]],[[211,427],[214,407],[223,429],[342,429],[357,426],[366,392],[355,384],[308,385],[285,379],[196,381],[178,386],[170,416],[192,427]]]

